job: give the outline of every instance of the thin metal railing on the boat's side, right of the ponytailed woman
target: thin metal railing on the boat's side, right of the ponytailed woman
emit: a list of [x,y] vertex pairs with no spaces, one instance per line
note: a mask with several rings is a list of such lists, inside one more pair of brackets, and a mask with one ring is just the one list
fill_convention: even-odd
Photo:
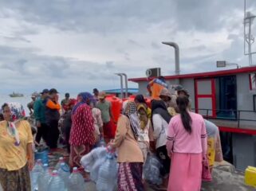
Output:
[[[254,123],[256,127],[256,111],[249,110],[222,110],[222,109],[202,109],[192,108],[192,111],[196,111],[203,115],[205,119],[219,119],[226,121],[237,122],[237,127],[241,127],[242,122]],[[201,111],[201,112],[200,112]],[[215,113],[215,115],[212,115]],[[226,114],[226,115],[225,115]]]

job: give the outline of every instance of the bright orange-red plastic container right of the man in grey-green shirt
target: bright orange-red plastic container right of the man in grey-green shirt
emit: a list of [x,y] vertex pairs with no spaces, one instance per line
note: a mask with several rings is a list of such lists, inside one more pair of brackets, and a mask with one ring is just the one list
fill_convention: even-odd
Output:
[[[113,118],[115,119],[115,121],[117,122],[119,116],[120,116],[120,112],[122,110],[122,104],[123,101],[122,99],[114,96],[114,95],[108,95],[106,96],[106,100],[108,100],[111,105],[112,105],[112,115]],[[112,132],[111,134],[115,135],[116,134],[116,124],[112,123]]]

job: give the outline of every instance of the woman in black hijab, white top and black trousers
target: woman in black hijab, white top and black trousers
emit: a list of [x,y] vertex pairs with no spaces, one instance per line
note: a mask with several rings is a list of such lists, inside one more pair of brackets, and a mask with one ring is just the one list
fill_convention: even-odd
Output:
[[170,120],[171,115],[168,113],[167,107],[165,106],[163,100],[152,100],[152,127],[153,135],[156,141],[156,155],[163,165],[163,168],[160,169],[160,173],[163,177],[163,184],[160,185],[161,189],[167,188],[171,166],[171,160],[168,157],[166,149],[166,134]]

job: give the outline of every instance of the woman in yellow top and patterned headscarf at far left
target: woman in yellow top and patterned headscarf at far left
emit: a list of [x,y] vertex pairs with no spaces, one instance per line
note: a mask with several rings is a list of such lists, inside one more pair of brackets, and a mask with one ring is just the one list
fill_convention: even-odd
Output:
[[30,191],[33,169],[33,136],[30,123],[20,119],[22,107],[2,105],[4,120],[0,122],[0,183],[3,190]]

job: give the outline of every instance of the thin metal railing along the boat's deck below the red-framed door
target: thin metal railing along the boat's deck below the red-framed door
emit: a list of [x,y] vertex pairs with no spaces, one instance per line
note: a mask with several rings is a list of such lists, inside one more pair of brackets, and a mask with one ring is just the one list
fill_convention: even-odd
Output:
[[[256,127],[256,112],[255,111],[249,111],[249,110],[221,110],[221,109],[195,109],[192,108],[192,111],[197,111],[200,113],[200,111],[206,111],[206,115],[203,115],[205,119],[221,119],[221,120],[229,120],[229,121],[237,121],[238,122],[238,128],[240,128],[241,121],[246,121],[246,122],[255,122],[255,127]],[[215,116],[213,116],[215,111]],[[225,117],[226,113],[226,117]],[[230,113],[230,116],[228,114]],[[241,118],[241,114],[254,114],[254,119],[245,119]],[[211,115],[209,115],[211,114]],[[218,116],[222,115],[223,116]],[[242,115],[244,116],[244,115]]]

